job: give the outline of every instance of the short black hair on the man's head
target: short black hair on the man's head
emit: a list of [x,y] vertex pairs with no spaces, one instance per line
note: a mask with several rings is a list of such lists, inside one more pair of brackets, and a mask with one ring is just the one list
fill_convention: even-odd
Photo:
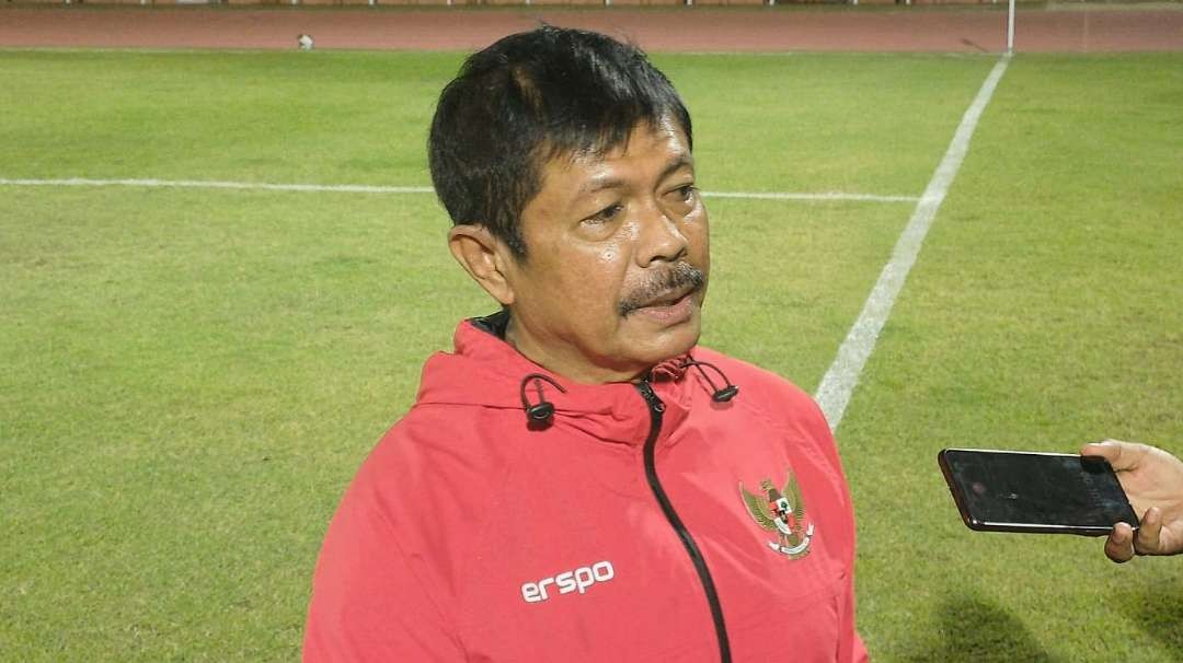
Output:
[[432,182],[453,223],[478,223],[525,258],[518,221],[562,155],[623,145],[641,122],[690,113],[645,53],[595,32],[542,26],[472,54],[444,87],[428,138]]

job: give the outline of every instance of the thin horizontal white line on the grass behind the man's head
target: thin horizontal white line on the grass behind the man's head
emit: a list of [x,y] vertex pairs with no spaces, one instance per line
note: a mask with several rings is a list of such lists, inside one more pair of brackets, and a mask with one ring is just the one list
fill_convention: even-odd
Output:
[[[12,187],[159,187],[193,189],[243,189],[272,191],[330,191],[348,194],[432,194],[431,187],[379,187],[369,184],[277,184],[267,182],[218,182],[209,180],[90,180],[69,177],[64,180],[14,180],[0,177],[0,186]],[[796,200],[796,201],[867,201],[867,202],[916,202],[916,196],[883,196],[874,194],[846,194],[828,191],[821,194],[797,194],[787,191],[703,191],[704,196],[717,199]]]

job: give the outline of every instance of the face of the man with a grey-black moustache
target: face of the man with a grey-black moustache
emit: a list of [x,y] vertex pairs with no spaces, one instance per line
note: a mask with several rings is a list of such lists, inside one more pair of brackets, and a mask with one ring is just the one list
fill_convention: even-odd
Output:
[[706,208],[674,123],[639,125],[627,149],[548,162],[521,229],[528,256],[506,260],[506,336],[530,359],[577,382],[620,382],[698,340]]

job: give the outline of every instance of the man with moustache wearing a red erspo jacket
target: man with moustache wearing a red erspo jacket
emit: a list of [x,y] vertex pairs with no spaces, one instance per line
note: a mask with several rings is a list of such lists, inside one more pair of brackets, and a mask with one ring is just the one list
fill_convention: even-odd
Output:
[[[543,27],[472,56],[432,124],[463,321],[342,500],[306,661],[852,661],[829,429],[696,346],[690,116],[638,50]],[[742,391],[741,391],[742,390]]]

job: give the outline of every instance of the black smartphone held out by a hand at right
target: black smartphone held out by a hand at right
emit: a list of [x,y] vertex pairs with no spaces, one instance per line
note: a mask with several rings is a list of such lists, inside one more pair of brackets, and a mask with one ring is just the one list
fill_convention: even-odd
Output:
[[1138,527],[1105,459],[943,449],[937,461],[970,529],[1104,535],[1118,522]]

